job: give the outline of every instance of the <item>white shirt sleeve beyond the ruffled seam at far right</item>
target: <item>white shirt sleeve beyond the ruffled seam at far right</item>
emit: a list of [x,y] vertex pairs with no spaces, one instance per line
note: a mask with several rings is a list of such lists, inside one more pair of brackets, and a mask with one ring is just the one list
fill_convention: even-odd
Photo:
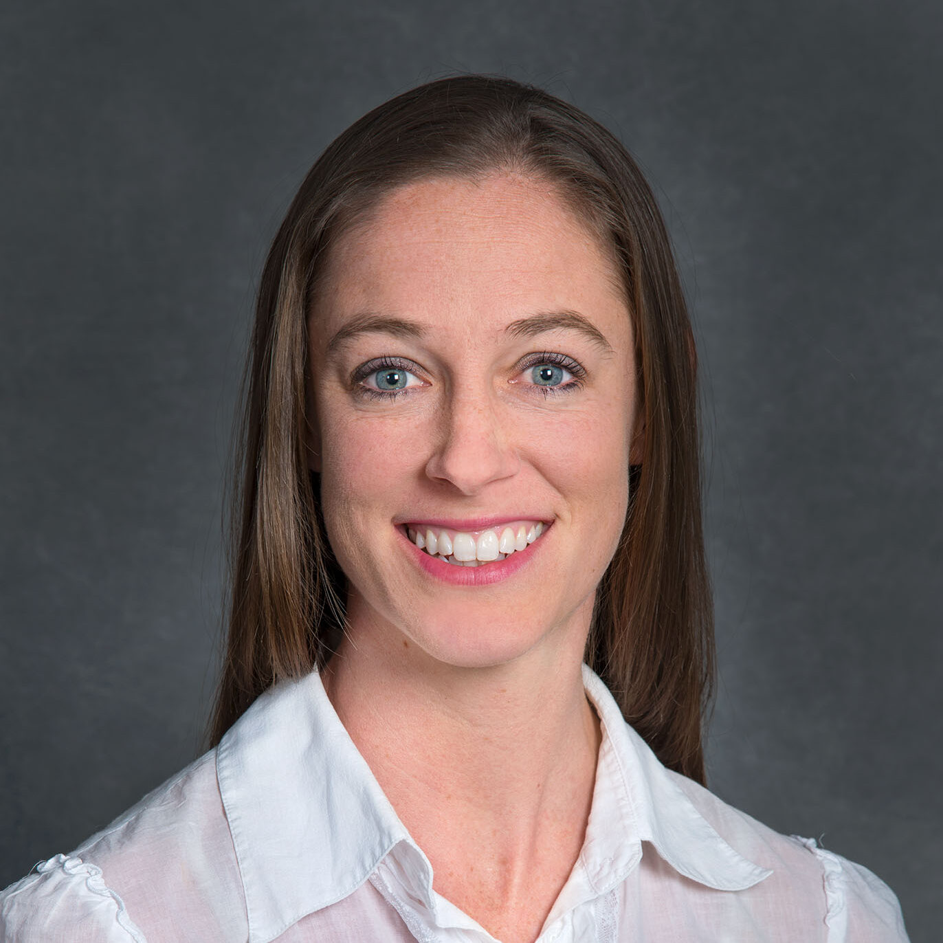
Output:
[[822,869],[827,943],[909,943],[901,904],[890,887],[869,869],[819,848],[814,838],[799,840]]

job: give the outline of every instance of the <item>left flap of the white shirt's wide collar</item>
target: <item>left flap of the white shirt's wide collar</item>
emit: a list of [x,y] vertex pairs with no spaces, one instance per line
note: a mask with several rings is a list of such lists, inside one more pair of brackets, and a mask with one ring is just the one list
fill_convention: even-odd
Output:
[[343,900],[400,842],[432,869],[340,722],[317,672],[261,694],[223,736],[216,770],[245,894],[249,943]]

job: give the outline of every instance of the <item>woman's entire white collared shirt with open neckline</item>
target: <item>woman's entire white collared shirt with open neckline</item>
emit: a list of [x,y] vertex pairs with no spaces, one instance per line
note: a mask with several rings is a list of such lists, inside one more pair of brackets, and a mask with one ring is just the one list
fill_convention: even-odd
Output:
[[[868,869],[665,769],[584,666],[603,739],[586,839],[539,943],[899,943]],[[492,943],[432,868],[317,673],[0,892],[3,943]]]

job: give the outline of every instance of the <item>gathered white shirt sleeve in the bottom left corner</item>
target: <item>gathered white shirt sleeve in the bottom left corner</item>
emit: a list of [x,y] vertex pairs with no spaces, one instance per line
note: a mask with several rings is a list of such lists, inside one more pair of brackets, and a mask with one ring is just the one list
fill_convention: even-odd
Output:
[[0,943],[147,943],[102,870],[57,854],[0,891]]

